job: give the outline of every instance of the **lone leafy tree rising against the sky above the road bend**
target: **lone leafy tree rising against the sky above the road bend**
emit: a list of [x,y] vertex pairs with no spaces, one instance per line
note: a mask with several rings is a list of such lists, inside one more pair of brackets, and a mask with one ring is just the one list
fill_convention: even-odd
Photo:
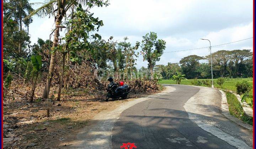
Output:
[[148,61],[151,79],[154,79],[153,68],[156,62],[160,60],[160,56],[164,53],[166,42],[162,39],[157,40],[155,32],[146,33],[142,38],[141,48],[143,61]]

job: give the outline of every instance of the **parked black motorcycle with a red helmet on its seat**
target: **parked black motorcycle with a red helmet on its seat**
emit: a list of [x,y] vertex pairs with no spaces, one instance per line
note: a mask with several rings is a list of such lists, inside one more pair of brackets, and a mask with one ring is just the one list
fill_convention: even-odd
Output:
[[123,82],[114,83],[113,78],[108,78],[108,81],[110,84],[108,84],[107,87],[107,99],[109,98],[116,99],[122,97],[123,99],[127,98],[127,95],[129,94],[130,88],[128,85],[124,85]]

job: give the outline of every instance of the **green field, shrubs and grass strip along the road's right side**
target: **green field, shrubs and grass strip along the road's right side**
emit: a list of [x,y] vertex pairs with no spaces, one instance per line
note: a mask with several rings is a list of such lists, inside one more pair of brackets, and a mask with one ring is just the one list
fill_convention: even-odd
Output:
[[[176,84],[176,81],[161,80],[159,81],[159,83]],[[212,80],[211,79],[185,79],[185,80],[182,80],[181,84],[211,87]],[[246,101],[246,103],[249,104],[251,108],[253,108],[252,78],[237,78],[237,79],[218,78],[218,79],[213,79],[213,84],[215,88],[229,90],[233,93],[240,94],[242,98],[241,102]],[[229,91],[225,91],[225,93],[226,93],[226,98],[229,105],[230,114],[252,125],[252,120],[253,120],[252,117],[247,116],[245,114],[236,96],[230,93]]]

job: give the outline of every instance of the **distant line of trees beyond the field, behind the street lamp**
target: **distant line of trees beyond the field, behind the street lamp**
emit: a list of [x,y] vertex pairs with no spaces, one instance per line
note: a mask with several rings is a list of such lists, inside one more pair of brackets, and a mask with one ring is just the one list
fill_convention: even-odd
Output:
[[[199,62],[207,60],[208,62]],[[212,53],[213,77],[247,78],[252,77],[252,52],[251,50],[219,50]],[[143,71],[144,67],[140,69]],[[189,55],[183,57],[179,63],[156,65],[154,72],[160,73],[163,79],[170,79],[173,75],[185,74],[187,79],[211,78],[210,55]]]

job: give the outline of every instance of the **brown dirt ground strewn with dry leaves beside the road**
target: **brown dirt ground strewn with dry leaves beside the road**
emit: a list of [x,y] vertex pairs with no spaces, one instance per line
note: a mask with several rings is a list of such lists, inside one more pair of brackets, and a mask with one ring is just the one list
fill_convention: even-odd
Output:
[[[80,128],[90,125],[90,120],[103,110],[114,109],[134,98],[148,93],[129,94],[129,99],[105,101],[106,91],[87,89],[71,90],[56,101],[57,87],[50,92],[47,115],[47,100],[40,99],[43,87],[36,89],[36,99],[28,100],[31,87],[14,85],[4,91],[4,148],[63,148],[75,139]],[[38,85],[40,86],[40,85]],[[152,94],[152,93],[151,93]]]

